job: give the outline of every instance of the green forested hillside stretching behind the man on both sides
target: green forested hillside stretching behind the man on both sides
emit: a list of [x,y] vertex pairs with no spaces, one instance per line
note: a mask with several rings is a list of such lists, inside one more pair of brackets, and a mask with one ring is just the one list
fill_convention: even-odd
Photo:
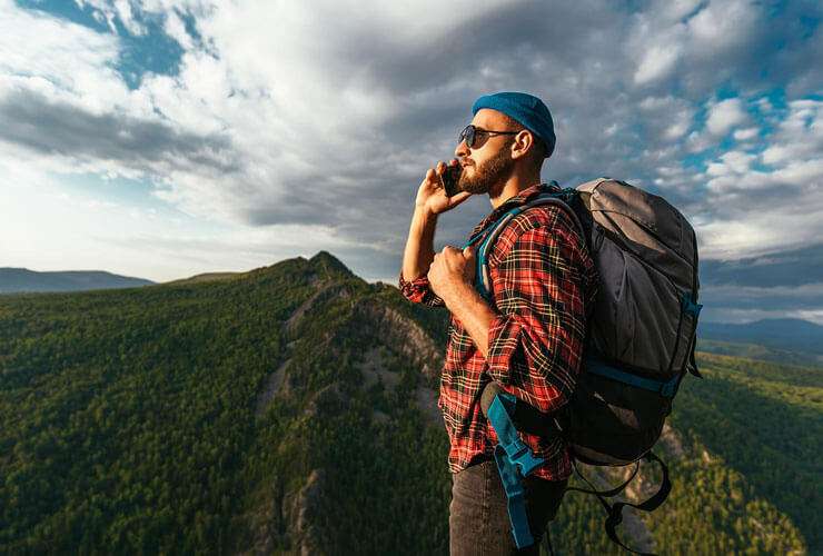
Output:
[[[0,297],[0,553],[447,554],[447,318],[327,252]],[[821,371],[698,363],[661,441],[673,494],[624,535],[661,554],[823,550]],[[577,494],[552,536],[617,553]]]

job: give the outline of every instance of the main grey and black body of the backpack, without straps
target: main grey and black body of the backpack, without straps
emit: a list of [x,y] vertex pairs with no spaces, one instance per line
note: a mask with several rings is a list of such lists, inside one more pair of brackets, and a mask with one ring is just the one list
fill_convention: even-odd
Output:
[[605,178],[577,192],[599,291],[564,431],[576,459],[626,465],[660,437],[685,374],[700,376],[697,242],[661,197]]

